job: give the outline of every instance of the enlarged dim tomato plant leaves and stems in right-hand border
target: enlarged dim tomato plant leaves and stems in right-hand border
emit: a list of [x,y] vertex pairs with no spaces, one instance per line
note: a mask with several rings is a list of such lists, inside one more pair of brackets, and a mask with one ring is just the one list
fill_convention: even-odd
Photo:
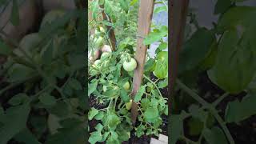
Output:
[[250,138],[254,133],[239,131],[256,114],[252,104],[256,7],[240,2],[218,0],[214,10],[220,15],[218,23],[208,28],[198,24],[194,11],[188,14],[172,100],[170,143],[255,142]]

